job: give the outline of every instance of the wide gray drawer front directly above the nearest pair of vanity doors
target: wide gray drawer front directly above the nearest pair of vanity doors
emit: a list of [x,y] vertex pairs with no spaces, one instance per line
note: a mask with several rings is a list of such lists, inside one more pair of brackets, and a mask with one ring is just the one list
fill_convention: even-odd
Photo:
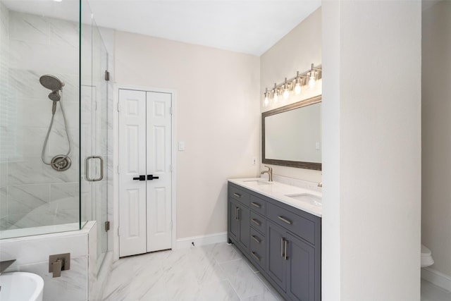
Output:
[[280,208],[271,203],[266,204],[266,217],[274,223],[288,229],[300,238],[307,240],[312,245],[315,244],[315,223],[309,219]]

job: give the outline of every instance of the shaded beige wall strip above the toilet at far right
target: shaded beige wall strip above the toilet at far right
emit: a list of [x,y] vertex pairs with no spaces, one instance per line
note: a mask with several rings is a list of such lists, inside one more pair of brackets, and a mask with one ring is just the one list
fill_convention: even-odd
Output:
[[423,11],[421,240],[451,278],[451,2]]

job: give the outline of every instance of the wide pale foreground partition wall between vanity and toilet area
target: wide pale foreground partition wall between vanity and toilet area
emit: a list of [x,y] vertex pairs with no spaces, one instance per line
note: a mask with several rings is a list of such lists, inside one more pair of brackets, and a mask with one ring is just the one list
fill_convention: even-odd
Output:
[[323,300],[420,300],[421,1],[322,9]]

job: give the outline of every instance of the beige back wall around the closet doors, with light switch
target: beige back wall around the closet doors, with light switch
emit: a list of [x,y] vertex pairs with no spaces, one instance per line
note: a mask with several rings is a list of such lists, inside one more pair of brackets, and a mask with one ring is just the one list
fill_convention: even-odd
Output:
[[118,85],[176,90],[177,238],[227,231],[227,178],[258,173],[259,57],[128,32],[115,55]]

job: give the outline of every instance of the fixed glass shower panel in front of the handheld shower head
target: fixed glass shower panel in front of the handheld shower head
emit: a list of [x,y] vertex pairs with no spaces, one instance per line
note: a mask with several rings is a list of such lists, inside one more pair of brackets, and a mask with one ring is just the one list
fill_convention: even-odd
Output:
[[80,228],[80,3],[0,1],[0,238]]

